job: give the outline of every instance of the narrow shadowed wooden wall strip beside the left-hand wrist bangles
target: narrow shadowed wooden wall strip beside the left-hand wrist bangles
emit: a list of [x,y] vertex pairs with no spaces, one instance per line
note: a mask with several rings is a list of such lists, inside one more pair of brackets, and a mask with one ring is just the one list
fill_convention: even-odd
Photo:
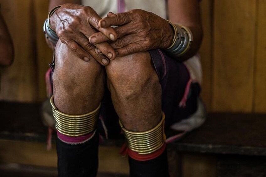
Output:
[[43,23],[48,16],[48,4],[49,0],[34,1],[35,8],[35,25],[36,25],[36,68],[38,75],[38,96],[42,101],[46,98],[46,86],[45,86],[45,72],[49,68],[48,63],[51,63],[53,52],[45,42],[44,33],[42,31]]

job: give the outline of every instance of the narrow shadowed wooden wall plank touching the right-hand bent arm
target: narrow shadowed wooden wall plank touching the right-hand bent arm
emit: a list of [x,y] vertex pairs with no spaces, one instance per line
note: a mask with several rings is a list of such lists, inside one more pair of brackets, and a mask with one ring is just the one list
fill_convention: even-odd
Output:
[[204,38],[200,47],[201,64],[203,71],[203,84],[201,96],[207,107],[211,110],[211,64],[212,64],[212,0],[202,0],[200,3],[201,21],[204,31]]

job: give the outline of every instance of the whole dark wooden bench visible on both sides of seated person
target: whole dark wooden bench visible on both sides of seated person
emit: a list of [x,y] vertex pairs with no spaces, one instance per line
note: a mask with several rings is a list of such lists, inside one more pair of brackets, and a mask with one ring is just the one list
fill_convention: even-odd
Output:
[[[40,119],[39,103],[0,102],[0,139],[46,141],[47,128]],[[108,140],[104,145],[121,145]],[[206,122],[184,138],[168,145],[168,151],[214,154],[217,176],[266,175],[266,115],[209,113]],[[177,159],[180,164],[182,159]],[[181,168],[178,170],[182,175]]]

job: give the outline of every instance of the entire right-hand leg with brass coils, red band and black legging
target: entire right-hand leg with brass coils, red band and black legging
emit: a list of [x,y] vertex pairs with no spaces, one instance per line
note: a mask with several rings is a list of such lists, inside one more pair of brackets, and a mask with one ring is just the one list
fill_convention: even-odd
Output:
[[[162,91],[148,52],[116,58],[106,66],[106,73],[115,111],[126,131],[134,134],[163,127]],[[168,176],[163,131],[162,128],[150,132],[154,136],[145,134],[152,143],[150,146],[147,141],[141,143],[140,139],[130,133],[126,136],[128,145],[131,144],[128,149],[130,176]],[[141,154],[137,152],[138,147],[144,147],[144,150],[158,148]]]

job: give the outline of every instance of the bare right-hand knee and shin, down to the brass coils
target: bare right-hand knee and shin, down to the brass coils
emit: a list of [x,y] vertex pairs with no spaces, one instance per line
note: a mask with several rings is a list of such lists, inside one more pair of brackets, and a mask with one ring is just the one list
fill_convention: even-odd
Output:
[[116,58],[106,67],[115,111],[125,128],[142,132],[161,120],[161,86],[150,54]]

